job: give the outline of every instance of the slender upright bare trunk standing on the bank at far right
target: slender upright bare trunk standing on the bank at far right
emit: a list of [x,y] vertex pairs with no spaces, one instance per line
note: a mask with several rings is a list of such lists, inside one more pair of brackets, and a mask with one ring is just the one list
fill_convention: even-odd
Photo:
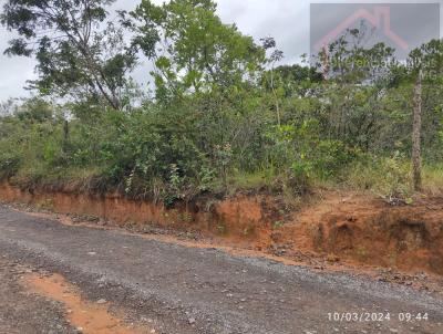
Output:
[[415,191],[420,191],[422,189],[422,80],[423,72],[420,70],[414,87],[414,119],[412,129],[412,168]]

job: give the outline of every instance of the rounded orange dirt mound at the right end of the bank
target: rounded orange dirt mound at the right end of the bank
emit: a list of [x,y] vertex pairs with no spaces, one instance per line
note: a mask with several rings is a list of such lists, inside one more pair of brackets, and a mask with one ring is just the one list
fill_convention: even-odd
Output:
[[329,259],[443,274],[443,201],[392,207],[364,195],[330,194],[295,213],[275,241]]

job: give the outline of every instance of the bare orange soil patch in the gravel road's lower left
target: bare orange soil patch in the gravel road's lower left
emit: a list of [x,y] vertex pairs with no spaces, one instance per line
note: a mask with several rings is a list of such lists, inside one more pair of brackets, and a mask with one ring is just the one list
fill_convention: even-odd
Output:
[[31,291],[63,303],[71,324],[79,330],[81,327],[84,334],[155,333],[153,330],[147,332],[124,324],[122,320],[110,314],[106,304],[84,301],[75,286],[59,274],[51,276],[31,274],[25,276],[24,281]]

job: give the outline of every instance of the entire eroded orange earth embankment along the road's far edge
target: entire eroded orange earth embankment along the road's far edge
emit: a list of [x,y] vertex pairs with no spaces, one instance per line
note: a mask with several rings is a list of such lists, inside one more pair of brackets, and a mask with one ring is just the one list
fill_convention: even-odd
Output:
[[392,207],[368,195],[328,192],[321,200],[287,212],[279,199],[256,194],[166,209],[117,195],[30,194],[3,182],[0,199],[101,217],[119,225],[198,231],[219,237],[222,242],[287,258],[315,254],[329,262],[443,274],[443,200],[437,198]]

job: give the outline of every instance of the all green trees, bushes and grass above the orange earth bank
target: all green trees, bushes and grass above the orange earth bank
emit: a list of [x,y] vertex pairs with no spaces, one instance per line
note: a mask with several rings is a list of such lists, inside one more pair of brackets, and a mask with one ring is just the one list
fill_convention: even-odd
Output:
[[[35,55],[39,80],[34,97],[2,107],[2,178],[167,205],[321,185],[408,201],[422,71],[424,187],[443,185],[442,41],[400,63],[382,43],[352,43],[363,33],[352,30],[316,63],[276,66],[274,39],[224,24],[213,0],[143,0],[120,22],[107,19],[109,4],[7,1],[2,22],[20,36],[8,52]],[[131,79],[137,58],[153,64],[153,94]]]

